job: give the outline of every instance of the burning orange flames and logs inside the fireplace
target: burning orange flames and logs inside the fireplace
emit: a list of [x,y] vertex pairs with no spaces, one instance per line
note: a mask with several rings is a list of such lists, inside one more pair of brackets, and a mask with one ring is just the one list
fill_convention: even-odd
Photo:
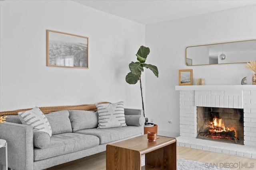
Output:
[[212,128],[209,129],[210,133],[235,131],[234,137],[237,139],[236,129],[234,127],[226,127],[224,121],[222,121],[220,118],[214,117],[213,121],[206,123],[206,126]]

